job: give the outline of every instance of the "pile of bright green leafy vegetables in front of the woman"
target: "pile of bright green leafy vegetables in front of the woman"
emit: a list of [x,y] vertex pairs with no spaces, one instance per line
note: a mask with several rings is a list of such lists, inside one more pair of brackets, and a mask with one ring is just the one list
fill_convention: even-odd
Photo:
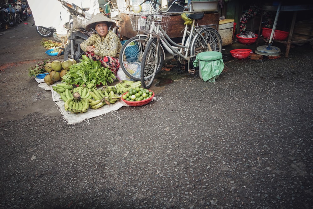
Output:
[[88,83],[107,85],[107,82],[113,83],[116,79],[112,71],[101,66],[100,61],[94,61],[86,55],[82,55],[82,58],[79,63],[69,67],[69,71],[62,77],[62,82],[79,86]]

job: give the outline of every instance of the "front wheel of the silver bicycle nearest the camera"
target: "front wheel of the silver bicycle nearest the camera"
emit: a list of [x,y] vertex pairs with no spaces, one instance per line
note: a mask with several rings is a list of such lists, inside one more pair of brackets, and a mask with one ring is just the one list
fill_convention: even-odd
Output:
[[141,85],[144,88],[150,88],[155,75],[159,72],[159,66],[163,65],[163,56],[161,55],[160,40],[151,38],[147,43],[146,50],[142,56],[141,65]]

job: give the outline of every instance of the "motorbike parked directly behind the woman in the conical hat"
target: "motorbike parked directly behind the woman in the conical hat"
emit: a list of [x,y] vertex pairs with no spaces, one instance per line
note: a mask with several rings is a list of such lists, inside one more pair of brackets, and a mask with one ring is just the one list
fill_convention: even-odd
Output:
[[79,61],[85,52],[80,48],[80,44],[87,40],[92,33],[85,30],[85,24],[89,19],[85,18],[86,9],[80,8],[75,4],[58,0],[69,11],[70,18],[64,27],[67,29],[68,45],[64,51],[64,61],[74,59]]

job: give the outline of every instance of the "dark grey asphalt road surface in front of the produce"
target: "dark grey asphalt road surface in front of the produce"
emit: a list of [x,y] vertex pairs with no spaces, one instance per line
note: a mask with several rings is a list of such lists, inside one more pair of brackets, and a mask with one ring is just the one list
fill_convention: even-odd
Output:
[[172,82],[153,86],[156,101],[75,125],[27,76],[31,63],[9,65],[0,208],[313,208],[312,57],[306,44],[225,61],[215,82],[161,71],[156,83]]

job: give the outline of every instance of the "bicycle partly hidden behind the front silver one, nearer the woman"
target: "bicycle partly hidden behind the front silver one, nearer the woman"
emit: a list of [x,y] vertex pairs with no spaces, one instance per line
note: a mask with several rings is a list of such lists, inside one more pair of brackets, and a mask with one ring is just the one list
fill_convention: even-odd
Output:
[[[157,0],[144,0],[140,5],[142,5],[145,2],[149,2],[151,5],[151,8],[154,12],[159,11],[162,9],[161,4]],[[167,9],[163,10],[164,13],[167,13],[173,5],[181,5],[181,1],[174,0]],[[128,5],[128,8],[131,8],[131,5]],[[183,7],[181,5],[181,7]],[[120,62],[121,62],[121,69],[124,71],[124,73],[130,77],[131,79],[135,81],[140,81],[140,71],[141,71],[141,63],[142,63],[142,56],[143,52],[146,48],[146,44],[148,40],[151,38],[151,36],[140,34],[141,31],[143,31],[146,21],[146,14],[151,13],[151,11],[141,11],[141,12],[134,12],[129,11],[128,15],[131,20],[132,29],[134,31],[137,31],[138,35],[135,37],[132,37],[128,39],[122,46],[121,52],[120,52]],[[161,53],[161,60],[158,63],[157,72],[159,72],[162,68],[162,63],[165,59],[165,52],[163,48],[161,47],[160,52]],[[131,53],[130,53],[131,52]],[[126,59],[125,59],[126,57]]]

